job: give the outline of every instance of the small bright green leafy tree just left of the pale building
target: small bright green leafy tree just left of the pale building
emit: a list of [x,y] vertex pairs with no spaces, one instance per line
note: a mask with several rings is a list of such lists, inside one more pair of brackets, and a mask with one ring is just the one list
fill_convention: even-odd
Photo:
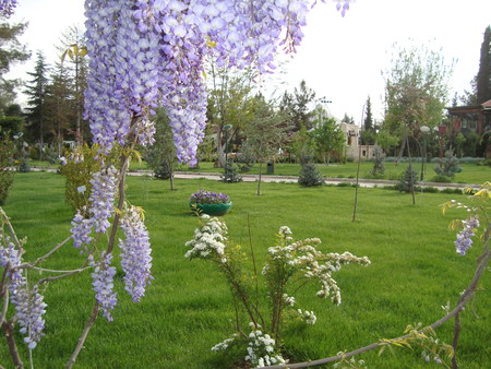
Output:
[[322,110],[318,111],[312,138],[327,165],[331,162],[331,153],[333,151],[342,152],[346,141],[345,133],[336,124],[336,120],[328,118]]

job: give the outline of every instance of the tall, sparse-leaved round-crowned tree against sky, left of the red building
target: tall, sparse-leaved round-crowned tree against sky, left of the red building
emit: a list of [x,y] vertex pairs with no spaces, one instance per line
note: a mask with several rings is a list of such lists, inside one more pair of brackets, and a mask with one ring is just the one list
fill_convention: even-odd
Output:
[[385,76],[385,121],[383,128],[399,139],[399,158],[407,138],[420,126],[433,128],[443,120],[452,66],[441,53],[424,47],[394,49],[392,69]]

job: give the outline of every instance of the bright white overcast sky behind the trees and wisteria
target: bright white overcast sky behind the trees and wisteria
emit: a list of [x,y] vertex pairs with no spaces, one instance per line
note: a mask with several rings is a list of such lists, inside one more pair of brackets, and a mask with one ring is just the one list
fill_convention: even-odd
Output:
[[[230,0],[233,1],[233,0]],[[83,0],[19,0],[13,21],[28,21],[21,41],[33,51],[40,49],[48,63],[57,55],[61,33],[84,22]],[[303,79],[318,97],[332,100],[330,111],[337,118],[348,114],[361,120],[370,96],[376,119],[383,116],[384,81],[382,70],[390,67],[394,43],[426,45],[440,50],[447,63],[456,60],[451,79],[451,99],[470,90],[479,68],[483,32],[491,25],[490,0],[357,0],[345,17],[326,0],[308,16],[304,39],[297,55],[285,68],[285,76],[274,76],[292,91]],[[410,41],[412,39],[412,41]],[[11,68],[10,75],[28,78],[34,59]],[[268,88],[270,90],[270,88]],[[19,96],[20,100],[22,99]]]

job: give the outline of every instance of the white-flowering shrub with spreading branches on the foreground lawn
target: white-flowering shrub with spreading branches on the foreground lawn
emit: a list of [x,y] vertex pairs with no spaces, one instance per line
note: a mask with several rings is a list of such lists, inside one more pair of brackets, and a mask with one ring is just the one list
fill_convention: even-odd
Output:
[[[339,305],[340,289],[333,279],[333,273],[338,272],[344,264],[370,264],[367,257],[358,258],[349,252],[323,253],[319,250],[319,238],[296,241],[291,237],[290,228],[280,227],[277,234],[278,242],[267,249],[266,263],[262,269],[266,286],[264,298],[270,300],[271,308],[270,311],[263,311],[258,308],[260,303],[256,294],[252,294],[258,288],[254,288],[251,282],[258,281],[259,276],[246,275],[246,254],[240,246],[231,246],[226,224],[208,215],[202,215],[200,221],[201,227],[196,228],[194,237],[185,242],[189,250],[184,257],[209,260],[218,266],[230,285],[237,314],[237,332],[215,345],[212,350],[220,352],[232,345],[241,345],[244,360],[254,367],[287,362],[280,352],[282,328],[288,321],[287,310],[288,317],[295,316],[306,324],[315,324],[318,318],[313,311],[296,307],[295,293],[299,286],[316,282],[321,287],[316,295],[321,298],[331,297],[334,303]],[[248,330],[239,326],[239,310],[244,311],[250,319],[249,334],[244,333]]]

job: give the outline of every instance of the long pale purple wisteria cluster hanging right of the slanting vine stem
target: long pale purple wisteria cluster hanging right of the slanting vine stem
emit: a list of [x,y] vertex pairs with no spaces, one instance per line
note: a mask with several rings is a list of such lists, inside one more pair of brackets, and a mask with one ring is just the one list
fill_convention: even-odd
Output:
[[119,240],[121,266],[124,272],[127,291],[133,302],[140,302],[145,287],[153,279],[151,275],[152,257],[148,231],[142,221],[141,209],[131,206],[120,221],[125,239]]

